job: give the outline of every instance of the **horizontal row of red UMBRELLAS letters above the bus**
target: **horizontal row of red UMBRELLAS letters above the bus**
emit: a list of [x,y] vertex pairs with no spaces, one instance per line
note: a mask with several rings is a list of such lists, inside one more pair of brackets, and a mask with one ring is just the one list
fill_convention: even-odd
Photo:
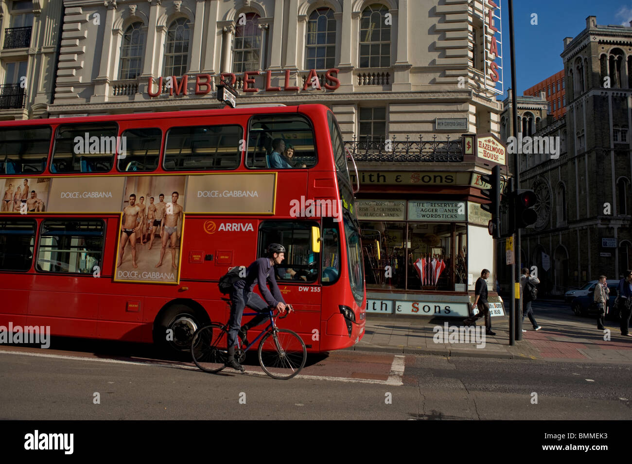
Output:
[[[337,77],[338,69],[332,68],[328,69],[325,72],[325,79],[322,85],[327,90],[336,90],[340,86],[340,81]],[[295,85],[290,85],[290,70],[285,69],[285,81],[283,84],[283,88],[280,86],[272,86],[272,71],[268,69],[264,73],[260,71],[246,71],[243,73],[243,92],[252,92],[256,93],[260,90],[265,90],[265,92],[296,92],[299,88]],[[259,74],[265,75],[265,86],[263,89],[257,88],[257,84],[255,82],[255,76]],[[219,74],[221,80],[228,82],[230,79],[231,85],[235,85],[237,81],[237,77],[233,73],[221,73]],[[164,78],[166,80],[166,87],[169,89],[169,95],[188,95],[188,81],[189,79],[193,80],[193,76],[188,76],[185,74],[179,80],[177,76],[167,76]],[[195,95],[207,95],[211,92],[213,86],[213,76],[211,74],[195,74]],[[147,90],[145,91],[147,95],[150,97],[158,97],[162,93],[162,77],[158,78],[158,88],[154,92],[154,78],[149,76],[147,83]],[[307,75],[307,79],[305,80],[305,85],[303,85],[303,90],[322,90],[320,86],[319,76],[316,73],[315,69],[310,69],[310,73]]]

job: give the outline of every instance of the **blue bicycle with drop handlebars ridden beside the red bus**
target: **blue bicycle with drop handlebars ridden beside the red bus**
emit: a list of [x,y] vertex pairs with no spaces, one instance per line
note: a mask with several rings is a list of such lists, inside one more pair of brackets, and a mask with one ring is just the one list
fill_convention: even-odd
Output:
[[[291,306],[290,306],[291,308]],[[307,348],[298,334],[289,329],[279,329],[274,323],[275,318],[288,317],[274,314],[269,309],[269,325],[247,347],[241,347],[241,340],[237,337],[235,359],[241,364],[246,358],[246,351],[261,338],[258,348],[259,365],[273,379],[287,380],[293,378],[305,366]],[[244,316],[257,316],[259,312],[244,313]],[[191,339],[191,356],[195,365],[204,372],[215,373],[224,369],[228,359],[228,323],[210,323],[199,328]]]

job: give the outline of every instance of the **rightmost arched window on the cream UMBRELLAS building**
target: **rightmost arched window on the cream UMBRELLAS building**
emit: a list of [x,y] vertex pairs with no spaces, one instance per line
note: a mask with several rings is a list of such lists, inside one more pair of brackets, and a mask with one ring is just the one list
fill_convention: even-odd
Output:
[[391,66],[391,25],[385,24],[384,5],[372,4],[362,11],[360,18],[360,68]]

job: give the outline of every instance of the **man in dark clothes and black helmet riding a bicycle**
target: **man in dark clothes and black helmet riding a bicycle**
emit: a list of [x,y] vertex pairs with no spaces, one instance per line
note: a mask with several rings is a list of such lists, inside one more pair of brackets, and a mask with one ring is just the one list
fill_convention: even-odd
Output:
[[[241,343],[248,345],[246,334],[250,328],[265,321],[267,314],[255,316],[249,323],[241,326],[241,316],[246,306],[257,312],[268,311],[275,308],[281,314],[285,314],[286,307],[292,311],[292,307],[286,304],[279,291],[279,285],[274,278],[274,265],[280,265],[285,258],[285,247],[278,243],[271,243],[267,248],[266,258],[259,258],[246,268],[246,278],[240,279],[233,284],[231,292],[231,317],[228,321],[228,359],[226,367],[233,367],[238,371],[245,371],[243,366],[235,360],[235,343],[239,335]],[[266,283],[269,283],[268,290]],[[257,294],[253,293],[255,285],[259,286],[259,291],[264,296],[265,301]]]

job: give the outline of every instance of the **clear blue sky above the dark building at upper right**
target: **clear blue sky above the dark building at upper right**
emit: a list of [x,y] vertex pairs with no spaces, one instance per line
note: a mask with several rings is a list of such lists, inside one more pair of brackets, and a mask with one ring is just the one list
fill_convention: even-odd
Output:
[[[495,3],[498,3],[496,1]],[[504,99],[511,87],[509,55],[509,2],[501,0]],[[575,37],[586,27],[587,16],[598,25],[626,25],[632,20],[632,1],[617,0],[514,0],[514,44],[518,95],[563,68],[564,37]],[[538,24],[532,25],[532,13]]]

